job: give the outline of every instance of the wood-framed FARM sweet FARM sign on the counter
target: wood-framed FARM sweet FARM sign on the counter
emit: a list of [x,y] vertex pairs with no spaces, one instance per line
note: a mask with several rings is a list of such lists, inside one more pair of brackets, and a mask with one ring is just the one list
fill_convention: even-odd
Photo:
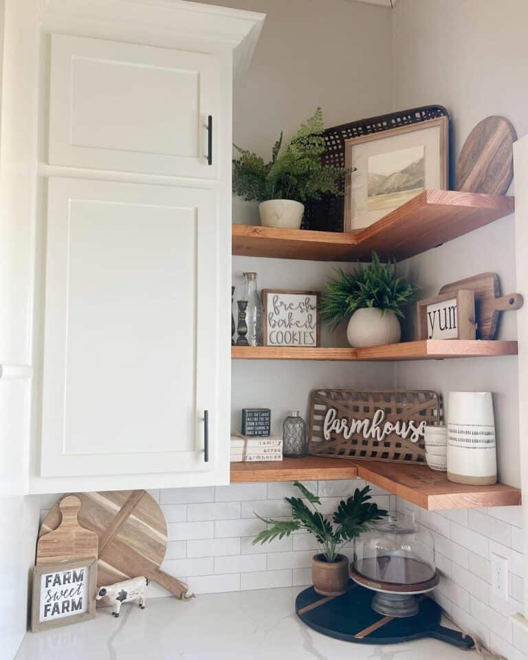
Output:
[[32,632],[93,619],[96,590],[97,560],[94,558],[35,566]]

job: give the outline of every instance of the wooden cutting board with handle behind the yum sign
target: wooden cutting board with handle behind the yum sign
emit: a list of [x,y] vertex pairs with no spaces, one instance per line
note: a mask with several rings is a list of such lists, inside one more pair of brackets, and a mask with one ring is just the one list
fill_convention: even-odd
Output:
[[500,281],[495,273],[481,273],[465,280],[446,284],[440,294],[454,294],[459,289],[475,292],[476,338],[496,339],[500,313],[522,307],[520,294],[500,295]]

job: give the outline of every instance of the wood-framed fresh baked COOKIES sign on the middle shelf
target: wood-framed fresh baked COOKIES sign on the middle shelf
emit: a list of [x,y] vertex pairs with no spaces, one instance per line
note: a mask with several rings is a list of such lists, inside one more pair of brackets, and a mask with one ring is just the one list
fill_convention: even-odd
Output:
[[265,346],[317,347],[320,292],[262,289]]

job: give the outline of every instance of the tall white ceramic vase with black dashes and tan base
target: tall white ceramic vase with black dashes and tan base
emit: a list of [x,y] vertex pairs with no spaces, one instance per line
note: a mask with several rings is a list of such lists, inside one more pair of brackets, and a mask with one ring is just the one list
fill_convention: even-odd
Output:
[[448,479],[485,485],[497,480],[495,419],[491,392],[450,392]]

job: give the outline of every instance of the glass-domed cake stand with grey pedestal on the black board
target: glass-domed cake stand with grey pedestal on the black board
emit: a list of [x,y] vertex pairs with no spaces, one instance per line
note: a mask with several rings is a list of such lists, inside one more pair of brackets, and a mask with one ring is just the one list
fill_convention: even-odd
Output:
[[414,518],[399,514],[374,522],[355,542],[350,573],[355,582],[377,592],[373,610],[413,616],[418,612],[415,595],[438,584],[432,534]]

